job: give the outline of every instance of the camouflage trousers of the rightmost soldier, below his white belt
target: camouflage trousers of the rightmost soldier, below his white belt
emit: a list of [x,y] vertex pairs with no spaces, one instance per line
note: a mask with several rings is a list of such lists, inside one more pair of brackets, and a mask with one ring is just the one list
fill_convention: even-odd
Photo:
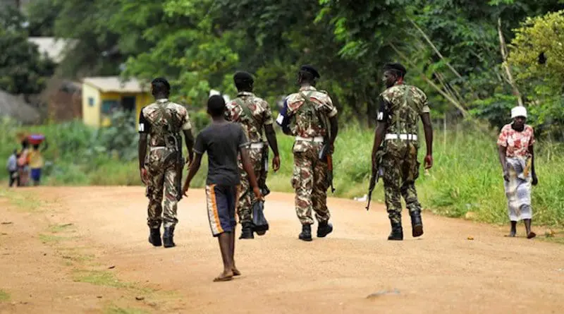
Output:
[[402,196],[410,215],[419,214],[421,204],[415,189],[415,180],[419,177],[417,144],[408,144],[404,140],[386,141],[381,167],[384,169],[384,195],[390,220],[401,222]]

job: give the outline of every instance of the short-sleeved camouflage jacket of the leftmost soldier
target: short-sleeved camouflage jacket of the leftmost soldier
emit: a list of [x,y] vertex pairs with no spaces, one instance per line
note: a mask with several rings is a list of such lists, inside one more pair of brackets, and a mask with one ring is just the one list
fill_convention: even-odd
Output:
[[157,99],[144,107],[139,116],[139,133],[149,134],[150,147],[170,146],[173,144],[171,140],[177,147],[182,147],[180,132],[190,128],[188,110],[168,99]]

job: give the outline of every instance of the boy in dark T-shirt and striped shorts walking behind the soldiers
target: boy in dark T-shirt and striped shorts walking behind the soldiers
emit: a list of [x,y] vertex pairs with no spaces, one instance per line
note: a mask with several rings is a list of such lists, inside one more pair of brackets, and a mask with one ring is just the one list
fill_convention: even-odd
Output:
[[238,123],[225,119],[226,104],[223,97],[213,95],[207,102],[207,112],[212,116],[212,123],[197,135],[194,162],[190,166],[188,177],[183,186],[183,195],[188,196],[190,182],[200,169],[202,155],[207,152],[208,173],[206,181],[207,212],[212,235],[218,238],[223,272],[214,282],[224,282],[240,275],[235,267],[235,211],[238,203],[240,174],[238,155],[241,156],[243,169],[255,193],[257,200],[262,194],[257,184],[255,170],[250,164],[247,147],[249,142],[245,131]]

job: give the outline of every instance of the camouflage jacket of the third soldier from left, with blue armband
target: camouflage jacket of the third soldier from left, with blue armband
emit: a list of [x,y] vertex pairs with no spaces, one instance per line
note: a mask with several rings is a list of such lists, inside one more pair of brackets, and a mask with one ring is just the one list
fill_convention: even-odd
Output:
[[[310,106],[304,97],[309,97]],[[316,90],[313,86],[301,87],[300,92],[293,93],[286,99],[288,105],[287,115],[290,117],[290,131],[293,135],[303,138],[314,138],[321,136],[321,131],[329,126],[324,126],[319,121],[318,114],[332,118],[337,115],[337,109],[333,106],[331,97],[324,91]],[[313,107],[313,108],[312,108]]]

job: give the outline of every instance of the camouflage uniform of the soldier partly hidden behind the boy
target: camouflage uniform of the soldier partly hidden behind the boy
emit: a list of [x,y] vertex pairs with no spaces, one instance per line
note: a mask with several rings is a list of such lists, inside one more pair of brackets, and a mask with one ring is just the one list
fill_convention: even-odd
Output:
[[[268,153],[268,145],[263,137],[264,126],[274,123],[272,112],[268,102],[255,96],[252,92],[239,92],[237,98],[226,104],[226,119],[237,122],[243,127],[245,135],[249,140],[249,159],[255,170],[259,187],[266,186],[266,171],[268,164],[264,164],[264,157]],[[239,156],[239,171],[241,176],[241,187],[238,204],[239,222],[252,222],[252,203],[255,200],[248,179],[247,172],[243,169],[243,162]]]

